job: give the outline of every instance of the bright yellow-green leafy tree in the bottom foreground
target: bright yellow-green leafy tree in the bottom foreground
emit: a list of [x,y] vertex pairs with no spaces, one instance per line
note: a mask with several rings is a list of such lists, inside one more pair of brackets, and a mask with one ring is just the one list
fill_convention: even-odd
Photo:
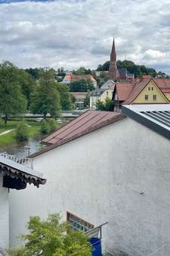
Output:
[[29,232],[21,236],[25,245],[9,251],[11,256],[91,256],[88,236],[72,231],[59,214],[50,214],[47,220],[30,217],[27,227]]

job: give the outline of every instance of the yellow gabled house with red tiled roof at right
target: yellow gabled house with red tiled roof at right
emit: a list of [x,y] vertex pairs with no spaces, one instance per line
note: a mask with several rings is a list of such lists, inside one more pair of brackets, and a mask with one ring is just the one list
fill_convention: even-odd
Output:
[[122,111],[122,105],[169,104],[170,79],[143,76],[133,81],[116,83],[113,92],[114,111]]

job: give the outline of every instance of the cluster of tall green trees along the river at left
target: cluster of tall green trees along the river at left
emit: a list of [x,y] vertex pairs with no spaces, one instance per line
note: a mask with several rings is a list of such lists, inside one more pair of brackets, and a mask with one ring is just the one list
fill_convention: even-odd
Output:
[[32,75],[9,61],[2,62],[0,115],[4,117],[5,123],[9,117],[26,111],[43,114],[44,117],[48,113],[51,117],[57,117],[61,110],[73,109],[69,87],[57,83],[55,75],[53,69],[46,68],[35,69]]

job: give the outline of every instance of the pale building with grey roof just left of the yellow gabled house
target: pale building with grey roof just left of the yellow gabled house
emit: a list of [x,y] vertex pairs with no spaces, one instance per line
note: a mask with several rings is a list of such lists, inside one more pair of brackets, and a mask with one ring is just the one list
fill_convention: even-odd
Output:
[[103,86],[95,89],[90,94],[90,108],[96,109],[97,101],[106,101],[106,98],[113,98],[113,89],[115,87],[115,82],[113,80],[107,80]]

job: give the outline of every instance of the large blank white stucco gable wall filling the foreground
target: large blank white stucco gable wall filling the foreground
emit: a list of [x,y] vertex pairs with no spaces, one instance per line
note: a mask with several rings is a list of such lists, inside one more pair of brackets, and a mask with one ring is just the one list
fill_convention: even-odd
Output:
[[66,219],[70,211],[94,225],[108,221],[103,242],[111,249],[168,256],[169,155],[168,139],[128,118],[39,155],[35,167],[48,183],[11,192],[11,245],[30,215]]

